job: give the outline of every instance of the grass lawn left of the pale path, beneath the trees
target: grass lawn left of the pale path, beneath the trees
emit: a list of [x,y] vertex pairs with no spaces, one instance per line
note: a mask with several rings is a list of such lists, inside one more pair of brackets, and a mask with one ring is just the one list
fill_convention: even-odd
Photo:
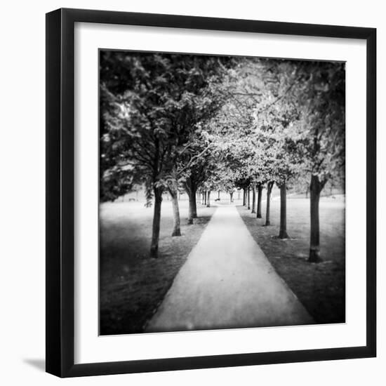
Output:
[[182,237],[171,237],[171,201],[161,213],[159,258],[149,259],[153,208],[143,203],[100,206],[100,334],[140,333],[197,244],[215,208],[197,203],[199,218],[187,225],[187,201],[180,201]]

